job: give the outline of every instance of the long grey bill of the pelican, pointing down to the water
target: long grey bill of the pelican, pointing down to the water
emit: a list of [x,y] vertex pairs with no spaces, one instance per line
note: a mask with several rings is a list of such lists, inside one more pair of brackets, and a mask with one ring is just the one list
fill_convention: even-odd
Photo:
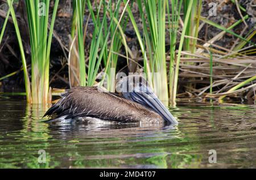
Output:
[[156,113],[160,114],[165,121],[172,124],[178,123],[147,84],[141,83],[139,86],[134,87],[133,92],[123,93],[123,95],[139,104],[150,107]]

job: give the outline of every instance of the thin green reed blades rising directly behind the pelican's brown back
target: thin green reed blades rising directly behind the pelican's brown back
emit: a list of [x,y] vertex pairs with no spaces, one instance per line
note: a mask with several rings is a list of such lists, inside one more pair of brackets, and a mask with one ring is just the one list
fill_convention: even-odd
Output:
[[[86,32],[83,32],[84,24],[82,23],[84,20],[85,2],[94,25],[88,62],[85,62],[84,37]],[[127,21],[121,21],[121,24],[117,24],[121,2],[121,0],[116,1],[114,3],[114,9],[112,9],[113,1],[106,2],[101,0],[98,2],[98,4],[97,1],[94,1],[94,5],[96,7],[96,13],[94,13],[94,7],[90,0],[75,1],[76,6],[74,6],[75,9],[73,10],[72,36],[75,37],[75,33],[77,33],[77,42],[79,47],[80,85],[94,85],[100,71],[100,65],[103,63],[105,69],[102,71],[105,71],[106,74],[108,74],[108,89],[110,91],[114,91],[115,82],[113,79],[115,78],[115,72],[113,76],[113,73],[110,72],[110,68],[116,68],[118,56],[113,54],[112,51],[118,53],[121,49],[123,41],[125,41],[122,38],[123,36],[120,35],[121,32],[117,32],[115,29],[117,29],[119,26],[125,28],[127,24]],[[103,11],[102,16],[100,14],[101,10]],[[75,28],[76,25],[77,28]],[[120,30],[122,30],[122,28]],[[112,45],[108,45],[110,37],[113,38]]]

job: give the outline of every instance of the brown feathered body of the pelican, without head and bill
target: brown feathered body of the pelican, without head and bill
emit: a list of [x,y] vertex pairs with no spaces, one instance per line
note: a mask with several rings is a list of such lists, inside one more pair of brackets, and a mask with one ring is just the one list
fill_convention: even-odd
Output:
[[117,122],[163,122],[150,108],[97,87],[73,87],[61,96],[44,116],[68,118],[93,117]]

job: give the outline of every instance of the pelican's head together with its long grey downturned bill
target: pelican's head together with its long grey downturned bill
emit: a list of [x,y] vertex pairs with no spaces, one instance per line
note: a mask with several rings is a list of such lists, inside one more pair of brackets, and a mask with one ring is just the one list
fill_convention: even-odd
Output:
[[117,83],[117,91],[131,101],[148,106],[163,119],[170,123],[177,123],[169,110],[163,105],[159,98],[152,91],[146,79],[140,75],[125,76]]

